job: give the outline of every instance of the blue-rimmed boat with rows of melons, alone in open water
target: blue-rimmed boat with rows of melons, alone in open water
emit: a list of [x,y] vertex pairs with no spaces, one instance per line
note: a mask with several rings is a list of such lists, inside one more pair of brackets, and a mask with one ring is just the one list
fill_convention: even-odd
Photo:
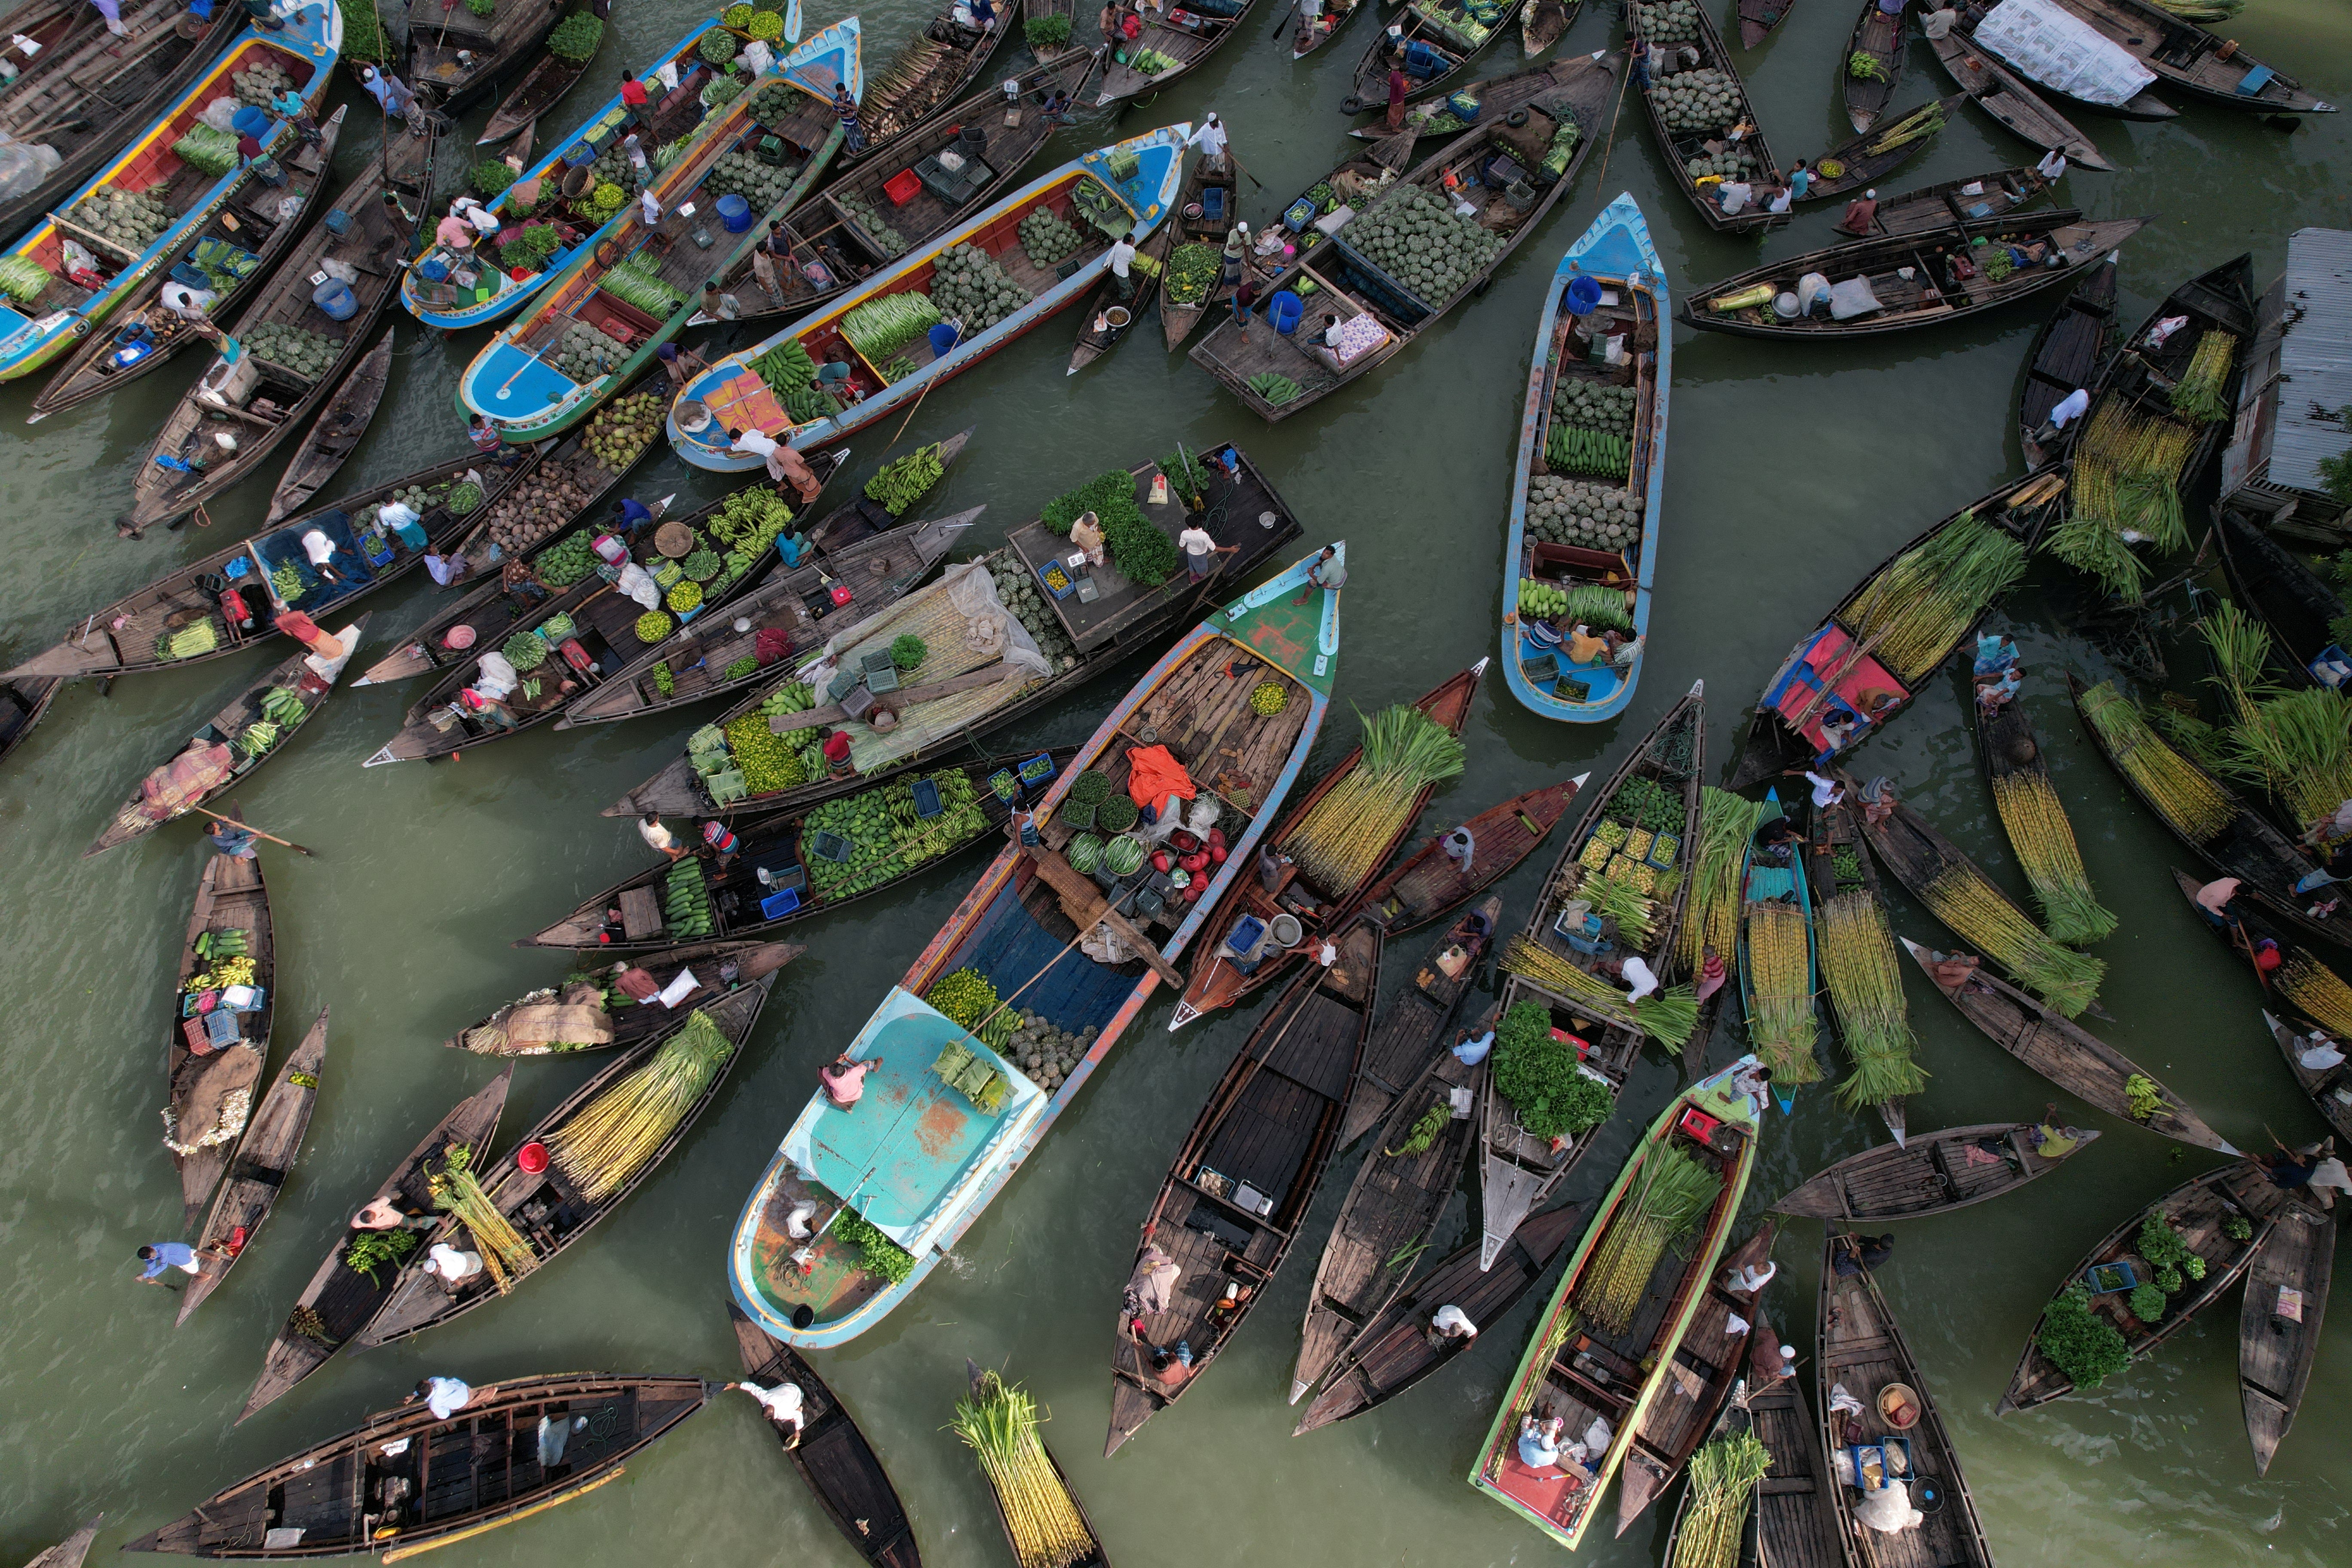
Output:
[[[1599,303],[1578,313],[1581,296],[1592,287]],[[1675,336],[1665,329],[1665,263],[1642,209],[1621,195],[1552,270],[1536,317],[1526,402],[1519,407],[1519,461],[1503,545],[1503,682],[1524,708],[1548,719],[1613,719],[1625,712],[1649,663],[1651,588],[1665,520],[1665,409],[1675,378]],[[1623,362],[1595,364],[1592,346],[1611,339],[1623,339]],[[1606,461],[1564,461],[1555,470],[1550,458],[1555,433],[1571,433],[1573,440],[1578,430],[1573,397],[1592,388],[1632,388],[1623,482]],[[1578,475],[1581,489],[1538,491],[1552,473]],[[1578,498],[1588,515],[1599,501],[1599,522],[1576,515]],[[1623,590],[1630,602],[1618,618],[1639,639],[1635,663],[1625,670],[1606,658],[1573,663],[1566,637],[1581,618],[1534,618],[1522,609],[1526,588]]]

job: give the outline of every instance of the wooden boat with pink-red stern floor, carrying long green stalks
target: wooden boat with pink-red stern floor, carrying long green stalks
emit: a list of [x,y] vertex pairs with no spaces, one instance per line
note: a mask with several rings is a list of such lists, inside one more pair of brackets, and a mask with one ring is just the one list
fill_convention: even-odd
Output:
[[[1778,778],[1790,769],[1799,766],[1823,766],[1835,762],[1839,755],[1851,750],[1858,741],[1877,736],[1910,701],[1926,689],[1943,668],[1947,658],[1962,646],[1973,646],[1971,637],[1976,625],[1971,623],[1952,639],[1947,649],[1936,654],[1910,679],[1898,679],[1893,670],[1872,656],[1870,642],[1856,642],[1849,618],[1856,616],[1856,607],[1863,595],[1879,578],[1882,571],[1893,567],[1907,552],[1922,548],[1943,529],[1973,517],[1990,522],[2011,538],[2016,538],[2025,550],[2032,550],[2042,538],[2042,529],[2051,522],[2053,501],[2065,489],[2065,480],[2056,468],[2039,468],[2023,480],[2011,480],[1994,489],[1990,496],[1971,501],[1950,517],[1938,520],[1931,529],[1907,541],[1893,550],[1886,559],[1863,574],[1863,578],[1846,590],[1846,595],[1830,609],[1830,618],[1820,630],[1806,635],[1780,668],[1773,670],[1771,682],[1764,684],[1764,696],[1757,701],[1755,719],[1748,726],[1748,738],[1740,748],[1740,764],[1731,771],[1731,783],[1726,790],[1745,790],[1759,785],[1766,778]],[[1999,599],[1994,599],[1997,604]],[[1990,611],[1992,604],[1985,604]],[[1837,708],[1828,705],[1823,696],[1835,693]],[[1865,719],[1858,703],[1863,701],[1882,703],[1872,719]],[[1891,698],[1891,701],[1886,701]],[[1856,729],[1844,741],[1823,731],[1823,717],[1837,717],[1842,722],[1853,722]]]

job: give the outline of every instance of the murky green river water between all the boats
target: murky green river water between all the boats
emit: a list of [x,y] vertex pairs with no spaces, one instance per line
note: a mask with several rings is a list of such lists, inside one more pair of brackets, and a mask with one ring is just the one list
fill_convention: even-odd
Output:
[[[1272,0],[1265,0],[1268,5]],[[1712,2],[1712,0],[1710,0]],[[1002,0],[1000,0],[1002,5]],[[1369,7],[1367,7],[1369,9]],[[1588,7],[1562,47],[1613,38],[1609,7]],[[1726,5],[1717,5],[1729,14]],[[600,82],[621,59],[675,38],[696,14],[682,0],[619,7],[626,54],[607,45]],[[927,12],[891,0],[866,14],[870,66]],[[811,14],[811,24],[823,14]],[[1207,71],[1124,127],[1221,110],[1244,165],[1265,181],[1244,209],[1265,216],[1343,148],[1338,99],[1371,38],[1294,66],[1261,7]],[[1783,158],[1842,139],[1835,61],[1851,9],[1806,0],[1748,56],[1759,113]],[[2326,0],[2260,0],[2225,31],[2319,94],[2352,99],[2352,14]],[[1515,40],[1510,45],[1517,49]],[[1505,59],[1501,49],[1489,59]],[[1002,61],[1000,61],[1002,63]],[[1489,66],[1494,68],[1494,66]],[[1926,49],[1903,101],[1945,92]],[[365,99],[362,99],[365,103]],[[579,99],[569,113],[581,113]],[[355,122],[360,115],[353,115]],[[480,110],[473,120],[480,120]],[[2345,226],[2352,125],[2314,118],[2291,136],[2218,110],[2173,125],[2089,120],[2124,169],[2077,174],[2070,200],[2096,216],[2154,214],[2124,254],[2124,317],[2138,320],[2173,282],[2244,247],[2267,282],[2298,226]],[[1061,136],[1061,158],[1108,141],[1108,125]],[[353,136],[358,165],[372,136]],[[1898,176],[1900,188],[2030,162],[2023,143],[1973,113]],[[938,390],[906,442],[967,423],[978,442],[938,510],[990,503],[976,543],[1110,465],[1164,451],[1174,437],[1237,437],[1308,517],[1310,534],[1350,538],[1352,585],[1341,693],[1364,708],[1411,698],[1494,646],[1501,508],[1534,313],[1552,261],[1602,202],[1630,188],[1646,207],[1672,287],[1689,292],[1750,263],[1752,242],[1710,235],[1625,113],[1606,153],[1550,216],[1491,294],[1359,383],[1275,430],[1221,397],[1157,331],[1065,381],[1073,320]],[[1766,244],[1828,242],[1813,212]],[[1468,813],[1557,773],[1611,766],[1623,748],[1705,677],[1715,759],[1729,757],[1738,710],[1788,644],[1872,559],[1929,520],[2020,473],[2011,407],[2042,308],[1962,331],[1929,331],[1858,350],[1783,353],[1686,336],[1677,346],[1665,548],[1649,675],[1618,726],[1538,722],[1489,682],[1470,724],[1470,773],[1432,813]],[[442,343],[400,317],[390,400],[350,484],[407,473],[461,449],[452,388],[480,334]],[[198,531],[122,543],[108,527],[129,494],[169,397],[193,369],[172,369],[113,402],[19,421],[28,388],[0,393],[0,651],[21,658],[169,562],[216,548]],[[856,475],[884,454],[889,428],[856,447]],[[242,534],[266,505],[275,465],[214,508],[216,536]],[[717,494],[713,475],[675,461],[637,470],[652,498]],[[2011,604],[2037,672],[2030,710],[2051,745],[2100,896],[2124,914],[2100,947],[2110,964],[2107,1037],[2159,1072],[2227,1138],[2288,1140],[2319,1121],[2281,1070],[2256,1018],[2256,992],[2180,907],[2166,867],[2176,842],[2122,797],[2082,745],[2058,670],[2103,670],[2056,630],[2039,569]],[[379,637],[428,614],[426,585],[379,599]],[[379,644],[381,646],[381,644]],[[365,654],[365,651],[362,651]],[[113,696],[66,691],[0,778],[0,954],[9,1027],[0,1037],[0,1556],[24,1559],[106,1509],[101,1552],[179,1514],[212,1488],[393,1403],[423,1373],[475,1382],[517,1373],[609,1368],[734,1375],[722,1246],[753,1180],[816,1065],[955,905],[969,865],[941,870],[877,905],[802,926],[804,957],[779,985],[753,1053],[677,1157],[593,1241],[515,1300],[395,1349],[350,1356],[240,1429],[230,1429],[261,1347],[308,1279],[348,1204],[489,1065],[440,1039],[492,1004],[562,973],[553,954],[508,940],[567,910],[642,858],[626,823],[595,809],[649,773],[699,722],[532,733],[454,766],[360,771],[414,691],[334,698],[318,729],[245,792],[249,816],[313,844],[315,860],[266,858],[275,896],[285,1041],[334,1006],[325,1091],[310,1143],[268,1234],[233,1281],[172,1331],[172,1302],[132,1288],[132,1248],[176,1234],[176,1185],[158,1140],[160,1034],[172,947],[200,870],[198,835],[174,825],[101,860],[80,860],[122,790],[186,726],[254,675],[247,661],[122,682]],[[1082,738],[1134,670],[1028,724],[1021,743]],[[1352,743],[1336,724],[1322,752]],[[1919,703],[1863,757],[1903,780],[1994,875],[2023,889],[1976,776],[1957,686]],[[1541,870],[1505,893],[1526,910]],[[1915,907],[1898,929],[1933,936]],[[1397,964],[1392,976],[1406,973]],[[2034,1114],[2049,1095],[1987,1041],[1912,985],[1924,1060],[1936,1074],[1912,1126]],[[1112,1309],[1136,1227],[1207,1088],[1251,1018],[1169,1037],[1167,1001],[1115,1051],[1004,1199],[971,1229],[953,1269],[882,1331],[823,1356],[884,1453],[924,1554],[936,1563],[1004,1563],[988,1495],[943,1432],[962,1359],[1007,1366],[1051,1406],[1054,1439],[1127,1568],[1143,1563],[1531,1563],[1555,1547],[1461,1483],[1531,1305],[1489,1328],[1475,1356],[1371,1418],[1294,1441],[1282,1403],[1315,1246],[1345,1187],[1345,1159],[1287,1274],[1216,1373],[1155,1420],[1117,1462],[1103,1462]],[[1719,1046],[1722,1048],[1722,1046]],[[590,1063],[522,1063],[508,1128],[562,1098]],[[1616,1126],[1653,1114],[1677,1077],[1644,1065]],[[2352,1554],[2343,1443],[2352,1422],[2352,1331],[2338,1324],[2296,1432],[2267,1481],[2253,1479],[2234,1387],[2234,1295],[2157,1363],[2093,1399],[1992,1418],[2034,1312],[2098,1234],[2166,1187],[2206,1168],[2199,1152],[2100,1124],[2091,1154],[2006,1204],[1912,1225],[1886,1269],[1889,1298],[1955,1427],[1985,1528],[2006,1568],[2058,1563],[2340,1563]],[[1882,1138],[1875,1119],[1809,1095],[1773,1121],[1757,1173],[1769,1201],[1820,1164]],[[1588,1161],[1581,1187],[1609,1182],[1613,1159]],[[1456,1204],[1458,1220],[1461,1204]],[[1442,1246],[1446,1241],[1442,1239]],[[1766,1298],[1811,1354],[1813,1237],[1780,1244]],[[2338,1312],[2343,1316],[2343,1312]],[[1665,1523],[1585,1547],[1609,1563],[1656,1561]],[[633,1465],[597,1497],[452,1547],[447,1563],[851,1563],[774,1450],[750,1401],[729,1396]]]

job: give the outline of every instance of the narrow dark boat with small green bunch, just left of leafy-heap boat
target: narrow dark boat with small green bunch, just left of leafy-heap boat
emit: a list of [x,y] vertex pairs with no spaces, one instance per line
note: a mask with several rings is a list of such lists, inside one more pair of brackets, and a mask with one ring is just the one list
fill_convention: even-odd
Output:
[[[1364,924],[1369,926],[1369,922]],[[1355,1340],[1357,1328],[1378,1316],[1404,1288],[1406,1267],[1430,1244],[1437,1220],[1454,1201],[1454,1190],[1463,1178],[1463,1157],[1477,1138],[1472,1112],[1479,1091],[1486,1088],[1486,1058],[1465,1065],[1446,1048],[1451,1044],[1446,1039],[1446,1025],[1454,1023],[1451,1011],[1418,1006],[1411,992],[1390,1004],[1388,1011],[1404,1013],[1399,1023],[1414,1023],[1423,1030],[1416,1039],[1397,1039],[1397,1030],[1390,1030],[1390,1044],[1399,1051],[1414,1048],[1425,1065],[1402,1091],[1381,1095],[1388,1110],[1374,1140],[1364,1145],[1364,1164],[1348,1182],[1348,1197],[1341,1199],[1331,1237],[1315,1265],[1298,1363],[1291,1368],[1291,1403],[1298,1403],[1308,1389],[1324,1380],[1324,1373]],[[1494,1030],[1496,1018],[1498,1013],[1489,1009],[1475,1030]],[[1369,1051],[1367,1039],[1357,1058],[1359,1074]],[[1352,1117],[1350,1093],[1343,1119]],[[1439,1117],[1435,1131],[1423,1126],[1430,1117]],[[1345,1138],[1345,1126],[1341,1138]]]

